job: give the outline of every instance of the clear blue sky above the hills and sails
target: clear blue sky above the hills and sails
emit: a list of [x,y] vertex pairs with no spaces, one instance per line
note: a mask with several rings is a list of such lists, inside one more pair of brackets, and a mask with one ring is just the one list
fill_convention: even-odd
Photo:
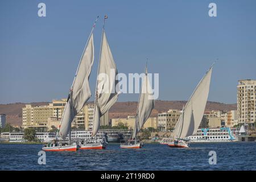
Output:
[[[38,16],[38,3],[47,16]],[[208,5],[217,4],[210,18]],[[256,1],[0,1],[0,104],[67,97],[97,15],[95,90],[103,17],[118,72],[159,73],[159,100],[187,100],[214,60],[209,100],[236,102],[256,78]],[[92,97],[93,98],[93,97]],[[137,101],[122,94],[119,101]]]

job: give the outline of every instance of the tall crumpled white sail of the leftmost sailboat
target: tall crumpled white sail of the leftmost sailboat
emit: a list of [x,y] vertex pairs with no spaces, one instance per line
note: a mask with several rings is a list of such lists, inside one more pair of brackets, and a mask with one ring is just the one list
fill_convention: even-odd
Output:
[[90,86],[89,76],[94,60],[94,46],[93,46],[93,30],[86,43],[84,52],[77,68],[76,76],[71,86],[69,98],[64,109],[63,117],[61,118],[59,136],[65,139],[71,129],[71,123],[75,115],[84,107],[89,100]]

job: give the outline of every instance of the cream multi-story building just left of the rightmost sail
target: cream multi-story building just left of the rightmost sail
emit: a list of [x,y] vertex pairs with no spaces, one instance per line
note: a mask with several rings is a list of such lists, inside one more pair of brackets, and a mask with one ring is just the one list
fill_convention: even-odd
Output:
[[167,113],[158,114],[158,126],[163,130],[173,129],[179,120],[181,111],[170,109]]

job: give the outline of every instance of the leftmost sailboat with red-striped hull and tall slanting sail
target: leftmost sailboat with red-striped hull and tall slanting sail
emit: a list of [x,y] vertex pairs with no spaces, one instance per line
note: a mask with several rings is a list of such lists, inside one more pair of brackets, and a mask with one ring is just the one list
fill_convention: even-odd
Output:
[[[77,141],[71,141],[71,123],[76,114],[81,111],[82,107],[92,96],[90,93],[89,77],[94,61],[93,30],[97,20],[98,17],[93,24],[92,31],[77,67],[75,78],[69,90],[59,132],[53,142],[44,144],[42,148],[44,151],[77,151],[80,148]],[[68,142],[65,141],[67,136]],[[58,141],[59,137],[62,139],[61,141]]]

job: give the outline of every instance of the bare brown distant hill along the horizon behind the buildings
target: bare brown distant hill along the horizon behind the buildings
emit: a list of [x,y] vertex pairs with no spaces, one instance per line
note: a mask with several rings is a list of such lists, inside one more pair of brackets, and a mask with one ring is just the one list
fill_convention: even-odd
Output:
[[[187,101],[155,101],[155,109],[151,116],[156,117],[158,113],[168,111],[169,109],[182,109]],[[48,105],[49,102],[32,102],[32,106]],[[6,114],[7,123],[14,126],[22,125],[22,107],[25,103],[0,104],[0,113]],[[126,118],[127,115],[135,115],[137,102],[117,102],[109,110],[110,118]],[[220,102],[207,102],[206,111],[210,110],[237,110],[237,104],[223,104]]]

